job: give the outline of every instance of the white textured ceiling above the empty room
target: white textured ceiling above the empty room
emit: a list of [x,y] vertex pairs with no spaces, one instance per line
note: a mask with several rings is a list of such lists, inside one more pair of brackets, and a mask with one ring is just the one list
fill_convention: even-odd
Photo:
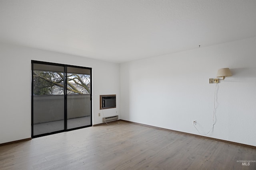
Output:
[[0,0],[0,41],[122,63],[256,36],[256,0]]

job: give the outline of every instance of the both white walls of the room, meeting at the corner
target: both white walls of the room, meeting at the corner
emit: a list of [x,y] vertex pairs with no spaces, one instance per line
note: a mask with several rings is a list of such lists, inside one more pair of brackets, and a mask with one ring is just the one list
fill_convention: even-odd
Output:
[[256,37],[121,65],[0,43],[0,143],[31,137],[31,60],[92,67],[93,124],[102,123],[99,95],[116,94],[117,108],[105,116],[197,135],[193,120],[201,133],[212,126],[208,79],[229,67],[208,136],[256,146]]

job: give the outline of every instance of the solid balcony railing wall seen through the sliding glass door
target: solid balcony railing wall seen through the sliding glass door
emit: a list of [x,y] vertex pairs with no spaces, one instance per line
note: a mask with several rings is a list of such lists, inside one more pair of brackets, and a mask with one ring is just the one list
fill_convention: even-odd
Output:
[[[36,95],[34,98],[34,124],[64,119],[63,95]],[[67,95],[67,118],[90,116],[90,94]]]

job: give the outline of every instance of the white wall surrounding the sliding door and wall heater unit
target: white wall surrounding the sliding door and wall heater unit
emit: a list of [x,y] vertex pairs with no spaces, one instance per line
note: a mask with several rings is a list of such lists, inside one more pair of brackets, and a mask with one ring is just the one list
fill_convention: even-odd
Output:
[[0,143],[31,137],[31,60],[91,67],[93,124],[102,123],[101,94],[117,98],[104,115],[119,115],[120,64],[0,43]]

